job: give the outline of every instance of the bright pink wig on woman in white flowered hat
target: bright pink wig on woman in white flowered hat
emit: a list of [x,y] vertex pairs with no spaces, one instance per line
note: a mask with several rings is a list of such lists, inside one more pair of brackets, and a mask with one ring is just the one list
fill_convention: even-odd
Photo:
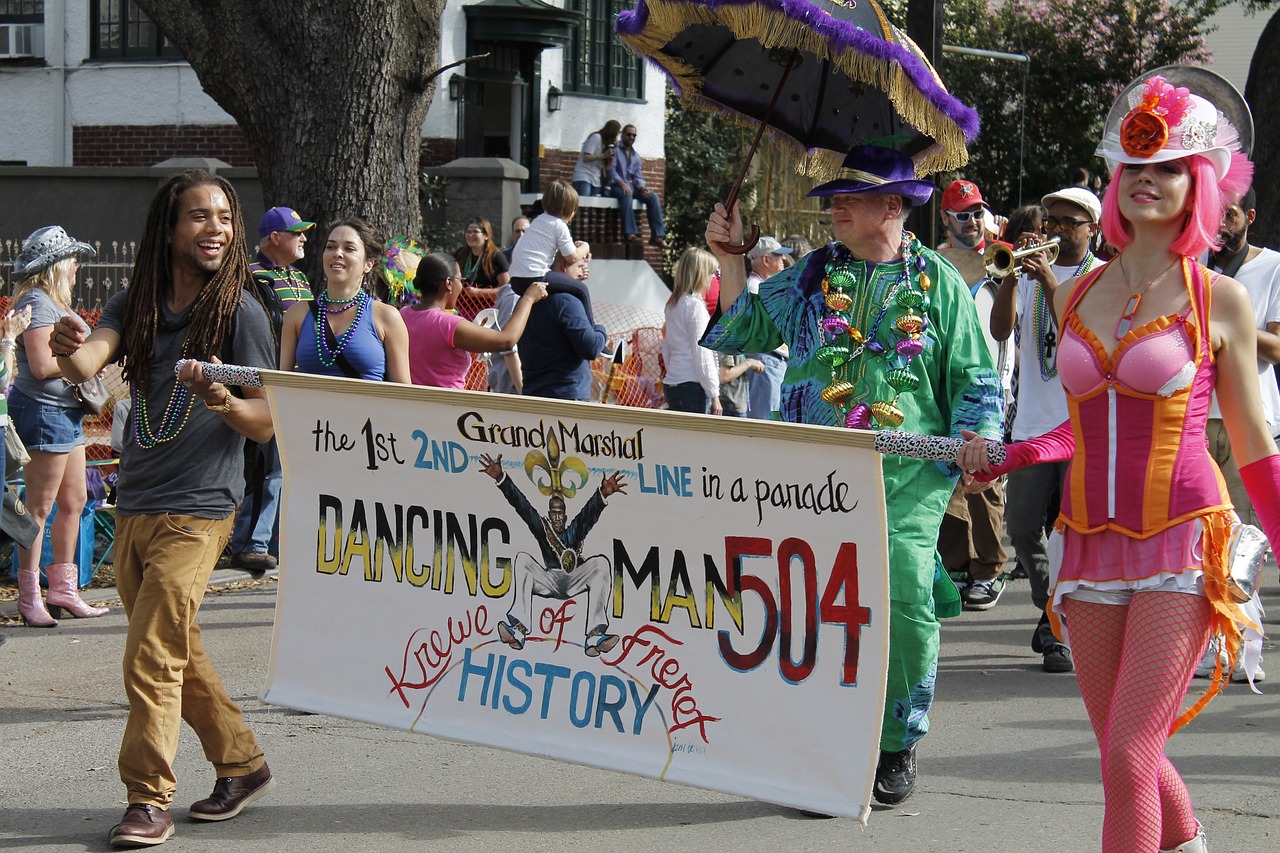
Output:
[[[1179,255],[1199,257],[1207,248],[1219,247],[1217,233],[1222,224],[1222,210],[1249,188],[1253,164],[1244,155],[1233,154],[1231,168],[1222,181],[1219,181],[1213,172],[1213,164],[1198,154],[1187,158],[1187,165],[1192,177],[1190,210],[1187,227],[1170,248]],[[1120,173],[1124,169],[1140,168],[1129,165],[1117,168],[1102,197],[1102,236],[1116,248],[1124,248],[1133,242],[1129,220],[1120,213]]]

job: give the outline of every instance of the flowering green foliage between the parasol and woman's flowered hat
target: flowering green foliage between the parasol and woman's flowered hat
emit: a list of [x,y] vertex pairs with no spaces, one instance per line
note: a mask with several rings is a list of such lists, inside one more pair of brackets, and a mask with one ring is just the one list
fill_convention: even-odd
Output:
[[1074,168],[1103,172],[1093,150],[1116,95],[1147,69],[1203,63],[1208,17],[1220,5],[1216,0],[950,0],[946,44],[1030,58],[1023,65],[945,54],[942,79],[978,110],[983,124],[964,175],[1007,211],[1061,187]]

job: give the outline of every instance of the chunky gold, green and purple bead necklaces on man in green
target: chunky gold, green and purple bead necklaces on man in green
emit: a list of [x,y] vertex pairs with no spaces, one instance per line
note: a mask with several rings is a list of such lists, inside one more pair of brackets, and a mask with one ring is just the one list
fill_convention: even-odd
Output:
[[[924,273],[924,257],[911,252],[911,241],[915,236],[911,232],[902,232],[902,272],[897,282],[884,293],[884,300],[876,313],[867,332],[852,325],[855,318],[865,316],[872,307],[872,291],[874,283],[868,275],[868,264],[854,260],[849,248],[842,243],[829,243],[827,246],[827,263],[822,279],[822,292],[824,293],[826,310],[822,319],[822,332],[827,336],[827,345],[818,347],[814,359],[831,368],[831,383],[822,389],[822,398],[836,410],[837,419],[849,429],[872,429],[873,419],[876,425],[897,428],[902,425],[905,415],[897,407],[897,400],[902,392],[915,391],[920,380],[911,373],[910,364],[915,356],[924,351],[922,336],[928,328],[928,319],[916,314],[916,309],[927,311],[929,307],[928,292],[932,283]],[[915,268],[919,291],[911,287],[911,269]],[[858,305],[854,305],[854,296],[858,296]],[[881,343],[877,338],[884,318],[892,306],[897,306],[906,314],[893,321],[892,329],[901,336],[892,346]],[[854,394],[867,374],[869,357],[882,356],[884,359],[884,379],[893,388],[892,400],[876,400],[867,403],[864,398],[855,401]],[[856,384],[855,384],[856,383]],[[865,397],[865,392],[863,394]]]

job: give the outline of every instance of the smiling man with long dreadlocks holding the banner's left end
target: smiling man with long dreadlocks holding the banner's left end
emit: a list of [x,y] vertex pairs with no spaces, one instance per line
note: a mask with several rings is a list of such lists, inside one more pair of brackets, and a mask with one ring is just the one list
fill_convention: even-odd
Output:
[[[128,792],[113,847],[150,847],[173,835],[173,761],[186,720],[214,763],[214,793],[191,817],[236,817],[275,784],[253,733],[223,688],[196,612],[243,497],[244,438],[271,438],[260,388],[210,382],[197,361],[271,368],[275,347],[252,296],[236,191],[206,172],[174,175],[147,213],[129,287],[92,334],[73,316],[50,336],[63,375],[92,377],[122,360],[133,412],[120,457],[115,581],[129,619],[120,744]],[[174,377],[174,364],[183,364]],[[241,396],[243,394],[243,396]]]

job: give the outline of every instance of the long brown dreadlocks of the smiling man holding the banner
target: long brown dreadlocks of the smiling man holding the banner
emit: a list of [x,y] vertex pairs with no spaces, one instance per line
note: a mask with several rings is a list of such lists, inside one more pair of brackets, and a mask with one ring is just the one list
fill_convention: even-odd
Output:
[[[172,287],[169,280],[169,234],[178,224],[178,200],[188,190],[215,186],[227,193],[234,231],[223,256],[223,264],[200,289],[191,306],[184,352],[188,359],[209,361],[221,355],[227,336],[236,328],[236,313],[250,283],[248,248],[239,233],[243,216],[239,196],[225,178],[193,169],[175,174],[161,184],[151,207],[138,246],[133,277],[124,302],[124,379],[138,391],[151,384],[151,357],[155,355],[156,329],[161,323],[160,300]],[[247,288],[253,293],[253,288]],[[257,295],[253,295],[257,298]]]

